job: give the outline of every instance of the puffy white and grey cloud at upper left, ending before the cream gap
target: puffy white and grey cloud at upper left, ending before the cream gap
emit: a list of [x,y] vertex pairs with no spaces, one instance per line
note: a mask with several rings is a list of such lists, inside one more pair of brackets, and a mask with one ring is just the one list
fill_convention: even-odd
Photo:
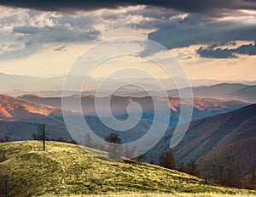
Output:
[[95,20],[90,15],[62,15],[24,9],[0,15],[0,59],[26,58],[38,53],[49,42],[62,44],[99,40],[101,32],[93,27],[94,24]]

